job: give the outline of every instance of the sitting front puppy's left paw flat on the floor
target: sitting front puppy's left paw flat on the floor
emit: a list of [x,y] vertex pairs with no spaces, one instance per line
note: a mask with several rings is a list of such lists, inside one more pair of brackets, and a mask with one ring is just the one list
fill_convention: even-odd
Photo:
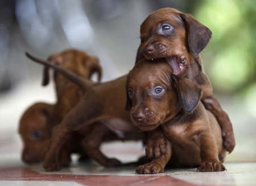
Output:
[[135,171],[135,173],[145,174],[145,175],[149,173],[164,173],[164,172],[167,172],[167,171],[164,170],[164,168],[161,167],[160,164],[154,163],[154,161],[147,163],[144,166],[139,166]]

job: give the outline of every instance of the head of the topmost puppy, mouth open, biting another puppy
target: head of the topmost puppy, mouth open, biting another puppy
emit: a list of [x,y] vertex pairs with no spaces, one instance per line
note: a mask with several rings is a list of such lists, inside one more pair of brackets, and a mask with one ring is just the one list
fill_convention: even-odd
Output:
[[137,60],[164,57],[176,76],[187,72],[193,57],[207,46],[212,32],[189,14],[165,8],[150,14],[141,24]]

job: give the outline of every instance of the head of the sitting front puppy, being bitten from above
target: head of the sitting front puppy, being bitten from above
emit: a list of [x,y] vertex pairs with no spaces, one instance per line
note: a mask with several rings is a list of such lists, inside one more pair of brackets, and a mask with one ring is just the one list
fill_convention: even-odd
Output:
[[201,97],[198,85],[172,75],[165,60],[156,62],[140,60],[127,78],[126,110],[130,110],[131,122],[144,131],[154,130],[181,110],[191,113]]

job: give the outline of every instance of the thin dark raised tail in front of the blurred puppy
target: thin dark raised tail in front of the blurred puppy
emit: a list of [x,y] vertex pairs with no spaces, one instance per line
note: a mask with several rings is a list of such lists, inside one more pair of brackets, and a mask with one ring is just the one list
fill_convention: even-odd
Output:
[[90,81],[88,81],[88,80],[86,80],[84,78],[81,78],[80,76],[77,76],[75,73],[67,71],[64,68],[58,67],[56,65],[53,65],[53,64],[51,64],[51,63],[49,63],[47,61],[40,60],[40,59],[30,55],[28,52],[26,52],[26,56],[29,59],[31,59],[32,61],[35,61],[36,63],[40,63],[40,64],[43,64],[46,67],[55,69],[55,71],[61,73],[61,75],[63,75],[65,78],[67,78],[68,80],[70,80],[73,83],[77,84],[81,88],[81,90],[83,92],[88,90],[89,85],[92,84],[92,82],[90,82]]

